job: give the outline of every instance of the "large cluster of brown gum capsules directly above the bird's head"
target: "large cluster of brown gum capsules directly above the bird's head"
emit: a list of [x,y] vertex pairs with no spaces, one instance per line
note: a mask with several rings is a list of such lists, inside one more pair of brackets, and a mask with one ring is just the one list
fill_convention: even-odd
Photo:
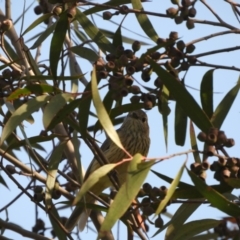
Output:
[[[107,79],[112,98],[116,101],[126,97],[129,93],[133,94],[130,98],[132,103],[144,103],[146,110],[151,109],[156,104],[156,94],[143,93],[139,86],[134,85],[133,74],[141,72],[144,82],[151,79],[152,69],[148,66],[147,58],[138,58],[135,53],[140,49],[139,41],[132,43],[132,49],[125,49],[123,46],[116,48],[115,53],[106,55],[106,63],[98,61],[96,63],[97,78]],[[154,52],[148,56],[154,61],[160,57],[160,53]],[[155,86],[160,86],[157,84]]]

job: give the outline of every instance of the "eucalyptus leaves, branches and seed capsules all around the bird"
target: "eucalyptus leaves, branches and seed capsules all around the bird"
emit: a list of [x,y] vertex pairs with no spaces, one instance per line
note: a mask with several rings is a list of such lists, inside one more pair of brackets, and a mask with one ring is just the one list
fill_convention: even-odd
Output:
[[[239,33],[239,28],[225,22],[205,0],[171,0],[169,3],[172,6],[166,9],[166,13],[145,11],[145,0],[112,0],[103,4],[92,1],[40,0],[39,5],[34,8],[39,16],[24,31],[18,31],[15,25],[19,21],[24,22],[28,9],[13,23],[9,2],[5,0],[5,14],[0,12],[0,47],[4,53],[0,56],[0,184],[8,188],[9,182],[13,181],[22,191],[16,199],[24,194],[29,198],[29,203],[33,201],[31,204],[45,211],[51,221],[53,237],[76,239],[75,234],[78,232],[65,227],[67,219],[61,217],[59,204],[69,210],[72,204],[83,204],[80,199],[85,194],[91,194],[91,187],[106,174],[109,174],[114,185],[114,168],[124,162],[106,164],[101,149],[96,144],[95,133],[104,129],[115,144],[124,150],[113,127],[123,121],[118,116],[141,108],[149,111],[157,108],[162,116],[166,147],[169,145],[168,116],[172,114],[175,119],[175,143],[170,144],[184,146],[189,135],[192,149],[146,161],[143,161],[140,154],[131,156],[127,180],[117,193],[113,191],[114,194],[110,196],[106,193],[94,196],[101,205],[84,203],[88,208],[107,212],[103,224],[100,227],[95,224],[98,237],[114,239],[111,229],[120,220],[126,225],[129,239],[134,234],[147,239],[145,234],[149,225],[155,229],[153,236],[156,238],[165,230],[165,239],[171,240],[199,237],[216,239],[218,236],[238,239],[238,231],[228,229],[227,223],[237,224],[239,227],[239,199],[231,192],[239,188],[240,159],[228,155],[226,148],[233,147],[235,142],[226,136],[221,127],[238,95],[240,79],[214,108],[213,74],[216,69],[238,72],[240,69],[203,62],[200,58],[237,51],[240,47],[197,54],[194,52],[198,43]],[[240,4],[225,2],[231,6],[238,19]],[[85,6],[89,8],[86,9]],[[205,7],[201,11],[210,10],[217,20],[196,19],[200,6]],[[99,12],[104,21],[113,21],[116,16],[122,17],[115,32],[98,27],[94,16]],[[122,34],[122,25],[128,15],[136,16],[147,41]],[[216,33],[212,31],[209,35],[186,43],[179,37],[181,34],[175,31],[170,31],[168,38],[159,37],[157,26],[151,22],[152,15],[158,17],[160,22],[166,18],[177,25],[184,24],[189,31],[197,28],[198,24],[227,30]],[[42,29],[40,26],[44,23],[44,30],[29,41],[24,40],[27,34]],[[153,44],[152,47],[148,46],[149,41]],[[49,59],[42,64],[41,46],[45,43],[49,46]],[[92,64],[91,69],[82,69],[82,63],[86,60]],[[187,73],[193,67],[209,67],[201,81],[200,103],[185,84]],[[88,71],[91,71],[90,75],[85,74]],[[141,80],[137,80],[139,76]],[[170,102],[176,103],[175,111],[171,112]],[[94,108],[91,107],[92,103]],[[42,118],[44,129],[39,127],[29,137],[24,122],[34,124],[36,112]],[[90,125],[90,117],[94,117],[94,125]],[[196,131],[199,132],[197,137]],[[84,183],[81,162],[84,153],[79,149],[80,142],[85,142],[98,156],[97,159],[105,163]],[[198,147],[200,142],[204,145],[202,150]],[[50,150],[46,149],[45,143],[51,147]],[[29,156],[30,166],[20,160],[21,154],[16,150]],[[43,151],[47,152],[44,156]],[[155,171],[156,163],[161,164],[168,158],[185,154],[192,155],[194,162],[191,162],[190,169],[184,163],[174,179],[164,175],[164,171]],[[209,163],[212,157],[215,161]],[[159,188],[144,183],[150,169],[169,186]],[[192,184],[181,181],[184,169]],[[218,185],[207,185],[206,172],[209,170],[214,172]],[[17,180],[17,174],[30,177],[27,187],[24,187],[21,180]],[[76,190],[79,190],[78,193]],[[115,199],[111,205],[108,203],[110,198]],[[7,211],[14,202],[3,206],[1,211]],[[162,216],[166,213],[166,208],[177,203],[182,204],[170,220],[164,223]],[[206,203],[228,217],[187,222]],[[152,215],[155,217],[154,222],[150,220]],[[75,225],[75,216],[71,216],[69,211],[67,218],[71,217]],[[95,223],[94,215],[91,218]],[[45,223],[37,215],[32,232],[21,228],[21,223],[17,224],[10,223],[8,218],[0,219],[1,235],[4,236],[5,230],[11,229],[32,239],[49,239],[45,237]]]

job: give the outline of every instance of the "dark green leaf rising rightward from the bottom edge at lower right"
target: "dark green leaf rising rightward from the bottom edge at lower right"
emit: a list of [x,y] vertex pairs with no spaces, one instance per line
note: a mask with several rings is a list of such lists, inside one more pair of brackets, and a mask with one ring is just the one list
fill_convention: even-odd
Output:
[[181,226],[174,238],[166,238],[171,240],[186,240],[199,233],[210,230],[221,223],[220,220],[215,219],[201,219],[188,222]]

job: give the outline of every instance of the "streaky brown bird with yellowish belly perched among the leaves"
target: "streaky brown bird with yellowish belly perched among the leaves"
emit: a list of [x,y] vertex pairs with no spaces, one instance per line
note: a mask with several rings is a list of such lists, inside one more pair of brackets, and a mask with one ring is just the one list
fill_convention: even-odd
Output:
[[[125,118],[122,126],[117,130],[117,133],[122,145],[128,153],[130,153],[132,156],[134,156],[136,153],[141,153],[143,156],[147,156],[150,146],[150,138],[148,119],[144,111],[136,110],[130,112]],[[101,150],[103,151],[109,163],[117,163],[124,158],[128,158],[126,153],[122,149],[120,149],[114,142],[112,142],[110,138],[107,138],[105,140],[105,142],[101,146]],[[117,172],[118,182],[120,183],[120,185],[122,185],[126,181],[128,165],[129,162],[125,162],[115,168]],[[100,164],[98,163],[98,161],[96,159],[93,159],[87,169],[84,181],[89,177],[92,172],[94,172],[99,167]],[[95,184],[90,189],[90,191],[98,196],[104,189],[110,186],[112,186],[112,182],[106,175],[100,178],[98,183]],[[84,201],[86,203],[94,203],[95,199],[89,194],[86,194]],[[76,225],[77,221],[79,221],[79,229],[83,230],[89,214],[90,210],[86,210],[82,206],[76,206],[65,225],[66,229],[68,229],[69,231],[72,230]]]

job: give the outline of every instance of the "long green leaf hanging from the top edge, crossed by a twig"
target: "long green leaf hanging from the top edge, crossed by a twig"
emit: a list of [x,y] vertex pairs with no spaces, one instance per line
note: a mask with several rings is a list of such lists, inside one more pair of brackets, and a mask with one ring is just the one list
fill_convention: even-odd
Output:
[[[135,11],[136,10],[139,10],[140,12],[144,11],[141,0],[131,0],[131,2],[132,2],[133,9]],[[153,27],[152,23],[150,22],[150,20],[148,19],[147,14],[136,13],[135,16],[139,22],[139,25],[141,26],[143,31],[147,34],[147,36],[150,37],[154,42],[157,42],[157,39],[159,38],[158,34],[154,30],[154,27]]]

